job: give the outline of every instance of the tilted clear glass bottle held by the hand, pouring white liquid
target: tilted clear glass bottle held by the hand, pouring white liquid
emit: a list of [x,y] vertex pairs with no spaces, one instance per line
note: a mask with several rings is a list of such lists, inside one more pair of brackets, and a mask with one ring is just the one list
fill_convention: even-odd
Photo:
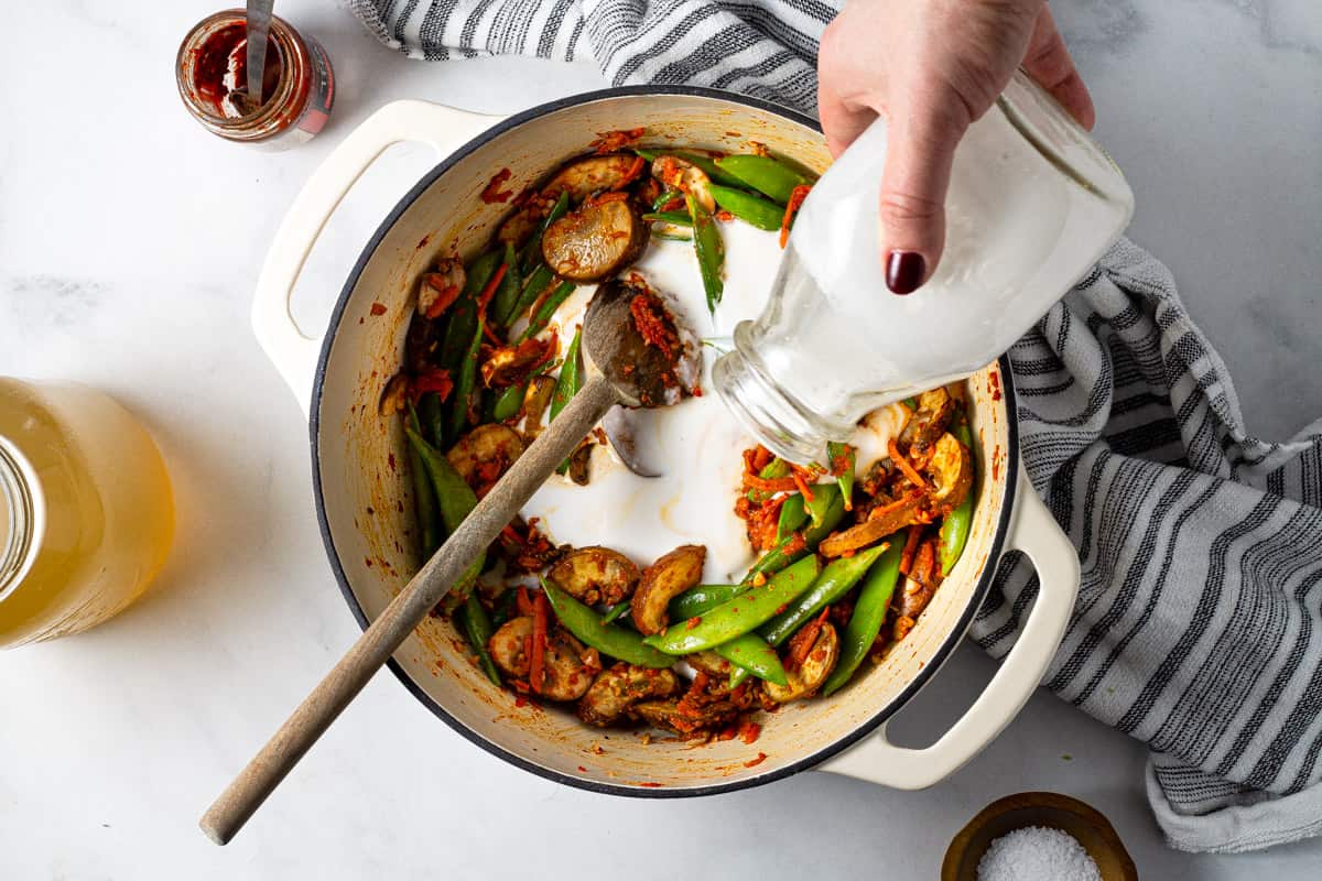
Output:
[[867,412],[995,361],[1133,214],[1120,169],[1018,73],[954,153],[936,272],[896,296],[879,247],[886,139],[878,119],[813,185],[765,309],[713,369],[743,425],[795,462],[825,462]]

